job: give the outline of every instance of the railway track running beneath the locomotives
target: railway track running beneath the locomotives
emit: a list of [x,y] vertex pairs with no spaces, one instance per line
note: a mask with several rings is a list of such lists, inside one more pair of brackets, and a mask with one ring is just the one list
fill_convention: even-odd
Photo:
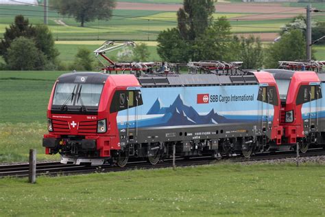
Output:
[[[305,154],[300,153],[300,157],[315,157],[325,155],[324,150],[311,150]],[[265,161],[265,160],[276,160],[276,159],[287,159],[296,157],[296,153],[293,152],[281,152],[277,155],[269,155],[269,153],[263,153],[256,155],[250,159],[243,157],[229,158],[231,162],[244,162],[244,161]],[[227,159],[227,158],[226,158]],[[211,157],[193,157],[191,159],[176,159],[176,166],[184,167],[191,165],[207,165],[224,160],[217,161]],[[71,174],[89,174],[95,172],[119,172],[125,170],[136,170],[136,169],[155,169],[155,168],[170,168],[173,166],[171,159],[167,159],[156,165],[150,165],[147,161],[136,161],[130,162],[125,168],[119,168],[112,165],[101,165],[101,166],[89,166],[89,165],[73,165],[73,164],[62,164],[60,162],[47,162],[36,164],[36,175],[48,175],[57,176],[58,174],[71,175]],[[12,164],[12,165],[0,165],[0,177],[15,176],[15,177],[26,177],[29,174],[29,164]]]

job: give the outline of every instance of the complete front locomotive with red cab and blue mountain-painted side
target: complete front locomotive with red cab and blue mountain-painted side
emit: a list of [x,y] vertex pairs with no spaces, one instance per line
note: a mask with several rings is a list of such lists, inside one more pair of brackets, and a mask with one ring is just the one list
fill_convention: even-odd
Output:
[[267,72],[169,76],[67,73],[54,84],[44,135],[62,163],[150,163],[242,154],[281,144],[280,97]]

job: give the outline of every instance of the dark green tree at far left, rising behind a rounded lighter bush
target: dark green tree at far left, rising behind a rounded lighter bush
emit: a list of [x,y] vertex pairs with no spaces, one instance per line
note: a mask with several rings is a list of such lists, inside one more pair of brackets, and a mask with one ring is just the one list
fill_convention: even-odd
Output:
[[58,50],[55,48],[54,40],[49,28],[46,25],[33,26],[29,25],[28,19],[24,16],[16,16],[14,23],[9,28],[5,28],[3,39],[0,42],[0,56],[8,64],[8,49],[15,38],[19,37],[30,38],[35,42],[36,48],[45,55],[49,60],[47,63],[56,62],[56,57],[59,55]]

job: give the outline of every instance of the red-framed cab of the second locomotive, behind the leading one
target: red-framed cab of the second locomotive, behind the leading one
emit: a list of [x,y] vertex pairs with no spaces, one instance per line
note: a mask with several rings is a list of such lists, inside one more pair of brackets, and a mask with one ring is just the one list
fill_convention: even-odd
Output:
[[[301,150],[315,141],[322,91],[314,71],[265,70],[273,74],[280,92],[284,144],[300,142]],[[313,141],[312,141],[313,140]],[[304,152],[305,152],[304,151]]]

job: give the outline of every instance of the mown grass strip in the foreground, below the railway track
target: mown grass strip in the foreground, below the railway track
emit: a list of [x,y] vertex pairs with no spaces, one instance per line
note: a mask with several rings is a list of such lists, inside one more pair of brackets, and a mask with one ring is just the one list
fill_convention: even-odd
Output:
[[217,164],[0,179],[1,216],[323,216],[324,165]]

